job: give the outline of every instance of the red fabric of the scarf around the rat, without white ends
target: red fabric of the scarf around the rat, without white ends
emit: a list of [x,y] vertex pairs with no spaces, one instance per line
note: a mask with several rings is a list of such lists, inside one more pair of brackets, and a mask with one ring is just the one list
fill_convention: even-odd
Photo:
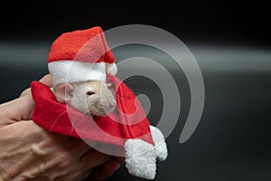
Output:
[[117,89],[118,109],[107,117],[92,119],[69,105],[58,102],[47,86],[33,81],[33,121],[43,129],[75,138],[117,146],[124,146],[127,138],[141,138],[154,145],[149,122],[134,92],[113,75],[107,74],[107,82],[111,82],[113,88]]

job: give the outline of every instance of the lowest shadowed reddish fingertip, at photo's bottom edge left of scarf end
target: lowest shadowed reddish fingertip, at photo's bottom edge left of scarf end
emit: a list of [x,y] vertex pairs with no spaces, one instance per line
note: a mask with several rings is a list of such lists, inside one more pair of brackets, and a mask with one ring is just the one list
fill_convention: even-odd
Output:
[[121,165],[114,159],[107,161],[101,167],[97,167],[93,174],[89,176],[89,180],[92,181],[99,181],[104,180],[109,176],[112,176],[120,167]]

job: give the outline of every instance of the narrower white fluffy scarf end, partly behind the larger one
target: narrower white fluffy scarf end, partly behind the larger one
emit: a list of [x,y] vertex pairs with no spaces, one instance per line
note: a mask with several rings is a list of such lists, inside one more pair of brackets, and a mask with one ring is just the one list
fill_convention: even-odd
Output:
[[160,129],[150,125],[151,134],[154,140],[155,153],[159,160],[163,161],[168,156],[164,135]]

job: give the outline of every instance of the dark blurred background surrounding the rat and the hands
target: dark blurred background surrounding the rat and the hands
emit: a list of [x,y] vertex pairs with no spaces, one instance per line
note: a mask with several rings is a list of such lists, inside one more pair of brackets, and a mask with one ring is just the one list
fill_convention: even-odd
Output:
[[[61,33],[96,25],[104,30],[124,24],[154,25],[178,36],[192,51],[206,91],[201,122],[192,138],[180,144],[190,90],[183,72],[171,70],[181,92],[182,110],[166,139],[169,158],[157,163],[155,180],[270,180],[269,6],[261,1],[178,3],[5,2],[0,11],[1,102],[14,99],[48,72],[47,54]],[[142,53],[140,50],[126,47],[114,53],[121,60],[132,52]],[[153,49],[147,52],[142,56],[164,57]],[[149,95],[148,118],[155,124],[163,103],[157,86],[140,77],[126,83],[135,92]],[[141,179],[130,176],[123,167],[108,180]]]

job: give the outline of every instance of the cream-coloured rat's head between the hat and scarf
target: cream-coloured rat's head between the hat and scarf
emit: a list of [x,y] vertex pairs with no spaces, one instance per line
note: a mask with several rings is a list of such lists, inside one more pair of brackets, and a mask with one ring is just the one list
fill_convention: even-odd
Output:
[[59,83],[53,88],[57,99],[86,114],[106,116],[116,107],[115,96],[102,81]]

